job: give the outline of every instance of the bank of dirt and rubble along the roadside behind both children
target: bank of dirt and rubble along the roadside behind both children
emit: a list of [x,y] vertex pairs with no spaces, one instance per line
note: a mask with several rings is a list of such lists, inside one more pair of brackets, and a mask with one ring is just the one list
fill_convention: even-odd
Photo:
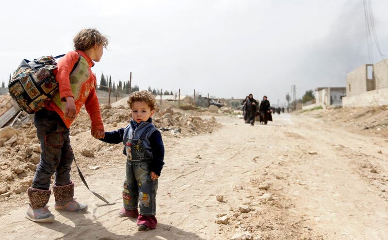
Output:
[[[124,100],[112,105],[101,105],[104,124],[110,129],[124,127],[131,119],[128,104]],[[220,126],[214,117],[200,117],[198,116],[200,113],[194,110],[184,111],[171,106],[162,106],[156,111],[154,123],[161,129],[163,138],[211,133]],[[96,159],[91,157],[91,154],[85,154],[86,152],[104,155],[113,149],[112,145],[100,141],[91,146],[88,133],[90,128],[89,115],[85,108],[82,108],[71,126],[70,135],[76,158],[80,158],[80,165],[82,169],[86,169],[86,173],[90,171],[87,169],[90,164],[98,164],[95,162]],[[18,122],[15,128],[0,129],[0,198],[25,192],[31,186],[33,174],[40,161],[40,151],[36,129],[29,116]],[[72,173],[76,174],[73,171]]]

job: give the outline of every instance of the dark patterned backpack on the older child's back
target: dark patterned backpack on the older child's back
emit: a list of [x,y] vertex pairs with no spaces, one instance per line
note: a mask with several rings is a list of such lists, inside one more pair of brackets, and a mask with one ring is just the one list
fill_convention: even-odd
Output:
[[[34,114],[45,107],[57,92],[58,82],[55,80],[57,63],[55,60],[63,56],[65,54],[56,57],[43,56],[33,61],[24,59],[16,69],[8,83],[8,91],[19,107],[28,114]],[[77,67],[78,62],[74,65],[73,70]]]

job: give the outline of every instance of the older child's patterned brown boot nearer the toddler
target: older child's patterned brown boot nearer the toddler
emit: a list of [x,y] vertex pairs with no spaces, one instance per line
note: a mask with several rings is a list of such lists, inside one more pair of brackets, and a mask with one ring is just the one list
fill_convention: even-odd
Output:
[[65,186],[56,186],[53,184],[52,191],[55,197],[55,210],[65,210],[70,212],[86,212],[88,206],[78,203],[74,197],[74,182]]

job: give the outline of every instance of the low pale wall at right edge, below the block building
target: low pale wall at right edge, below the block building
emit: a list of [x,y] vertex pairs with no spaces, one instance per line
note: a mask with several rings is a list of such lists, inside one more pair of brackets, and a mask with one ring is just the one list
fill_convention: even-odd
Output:
[[388,105],[388,87],[342,98],[343,107]]

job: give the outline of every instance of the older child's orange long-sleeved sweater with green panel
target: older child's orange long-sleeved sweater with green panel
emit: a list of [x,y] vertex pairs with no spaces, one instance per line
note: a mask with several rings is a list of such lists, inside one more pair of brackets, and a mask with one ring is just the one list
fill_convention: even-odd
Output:
[[[77,67],[74,65],[79,61]],[[100,105],[96,93],[97,79],[92,72],[94,63],[83,51],[69,51],[58,62],[58,72],[56,81],[59,85],[59,91],[52,100],[46,105],[46,108],[55,111],[62,118],[67,128],[70,128],[71,121],[65,119],[65,98],[73,97],[76,105],[76,115],[85,105],[86,111],[92,121],[92,131],[104,130],[104,124],[101,118]],[[71,72],[73,70],[73,72]],[[70,74],[71,72],[71,74]]]

